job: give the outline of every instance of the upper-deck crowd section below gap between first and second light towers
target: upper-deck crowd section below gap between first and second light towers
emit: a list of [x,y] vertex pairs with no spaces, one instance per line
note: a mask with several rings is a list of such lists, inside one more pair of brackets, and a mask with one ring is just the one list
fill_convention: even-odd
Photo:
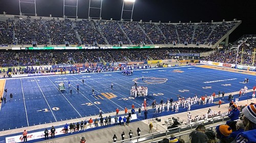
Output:
[[46,26],[51,38],[51,43],[54,45],[65,44],[68,41],[69,44],[79,44],[76,38],[74,28],[72,27],[72,21],[65,20],[46,20]]

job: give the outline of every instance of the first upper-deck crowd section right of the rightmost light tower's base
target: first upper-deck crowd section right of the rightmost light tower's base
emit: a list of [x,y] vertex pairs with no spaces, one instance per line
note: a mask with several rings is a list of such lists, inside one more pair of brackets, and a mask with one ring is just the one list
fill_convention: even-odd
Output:
[[140,23],[140,26],[154,44],[166,44],[166,41],[161,32],[157,29],[156,24],[142,22]]

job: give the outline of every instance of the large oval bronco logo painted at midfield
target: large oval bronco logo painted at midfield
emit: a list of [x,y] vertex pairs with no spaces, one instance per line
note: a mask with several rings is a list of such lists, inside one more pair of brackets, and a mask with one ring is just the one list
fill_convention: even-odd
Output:
[[144,77],[142,80],[142,77],[133,79],[136,83],[142,83],[142,84],[160,84],[166,82],[167,78],[158,78],[158,77]]

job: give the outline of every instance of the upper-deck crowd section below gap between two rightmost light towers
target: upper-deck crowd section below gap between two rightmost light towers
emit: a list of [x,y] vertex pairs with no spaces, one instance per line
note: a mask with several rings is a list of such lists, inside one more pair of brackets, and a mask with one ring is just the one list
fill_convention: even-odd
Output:
[[97,24],[110,45],[130,44],[118,21],[97,20]]

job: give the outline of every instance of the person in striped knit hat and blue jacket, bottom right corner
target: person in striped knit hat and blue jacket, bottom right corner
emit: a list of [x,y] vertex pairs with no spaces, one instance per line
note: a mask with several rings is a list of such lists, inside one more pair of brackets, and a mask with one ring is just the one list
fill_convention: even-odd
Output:
[[243,108],[244,132],[238,134],[236,142],[256,142],[256,104]]

